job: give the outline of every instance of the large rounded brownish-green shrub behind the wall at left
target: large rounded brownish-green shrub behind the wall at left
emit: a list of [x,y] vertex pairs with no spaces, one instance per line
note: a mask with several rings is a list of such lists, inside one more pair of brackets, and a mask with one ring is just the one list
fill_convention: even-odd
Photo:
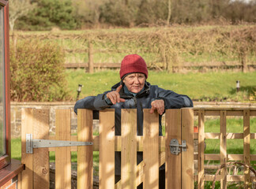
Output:
[[56,43],[18,41],[10,46],[11,100],[17,102],[62,101],[69,98],[62,50]]

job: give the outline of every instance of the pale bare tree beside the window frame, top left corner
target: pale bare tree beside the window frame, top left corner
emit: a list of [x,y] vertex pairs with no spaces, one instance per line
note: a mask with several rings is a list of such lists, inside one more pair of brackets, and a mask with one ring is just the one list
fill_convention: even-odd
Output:
[[34,9],[36,4],[31,4],[29,0],[11,0],[9,1],[9,28],[13,31],[15,22],[18,18],[24,16],[29,10]]

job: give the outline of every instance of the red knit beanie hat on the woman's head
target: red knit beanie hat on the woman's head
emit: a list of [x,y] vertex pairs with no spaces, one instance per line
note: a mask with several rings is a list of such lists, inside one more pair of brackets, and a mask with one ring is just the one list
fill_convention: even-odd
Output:
[[148,69],[144,59],[137,54],[129,54],[122,59],[120,68],[120,78],[128,73],[140,72],[144,73],[145,77],[148,78]]

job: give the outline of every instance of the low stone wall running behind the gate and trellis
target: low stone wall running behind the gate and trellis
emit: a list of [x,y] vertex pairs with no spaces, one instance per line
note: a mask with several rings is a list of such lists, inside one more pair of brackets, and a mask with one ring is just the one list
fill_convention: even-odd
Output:
[[[50,109],[50,132],[55,133],[55,109],[71,109],[71,133],[77,132],[77,115],[73,113],[75,102],[11,102],[12,137],[21,137],[21,108]],[[256,103],[194,102],[194,107],[256,107]],[[93,130],[98,131],[98,120],[93,120]]]

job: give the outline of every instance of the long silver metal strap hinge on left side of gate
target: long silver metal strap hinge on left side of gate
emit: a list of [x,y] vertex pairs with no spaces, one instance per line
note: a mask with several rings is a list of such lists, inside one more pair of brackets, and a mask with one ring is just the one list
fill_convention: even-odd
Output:
[[32,134],[26,134],[26,153],[33,154],[33,148],[43,147],[64,147],[64,146],[88,146],[92,142],[66,141],[66,140],[48,140],[32,139]]

